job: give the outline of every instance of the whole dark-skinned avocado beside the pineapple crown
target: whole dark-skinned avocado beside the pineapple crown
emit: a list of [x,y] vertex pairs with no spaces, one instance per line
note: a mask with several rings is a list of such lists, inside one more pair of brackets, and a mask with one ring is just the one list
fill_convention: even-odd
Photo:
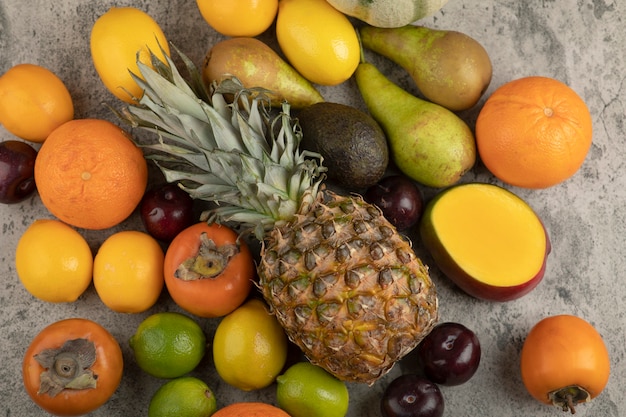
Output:
[[389,164],[387,138],[367,113],[345,104],[321,102],[296,117],[302,128],[300,147],[324,158],[328,179],[350,189],[370,187]]

